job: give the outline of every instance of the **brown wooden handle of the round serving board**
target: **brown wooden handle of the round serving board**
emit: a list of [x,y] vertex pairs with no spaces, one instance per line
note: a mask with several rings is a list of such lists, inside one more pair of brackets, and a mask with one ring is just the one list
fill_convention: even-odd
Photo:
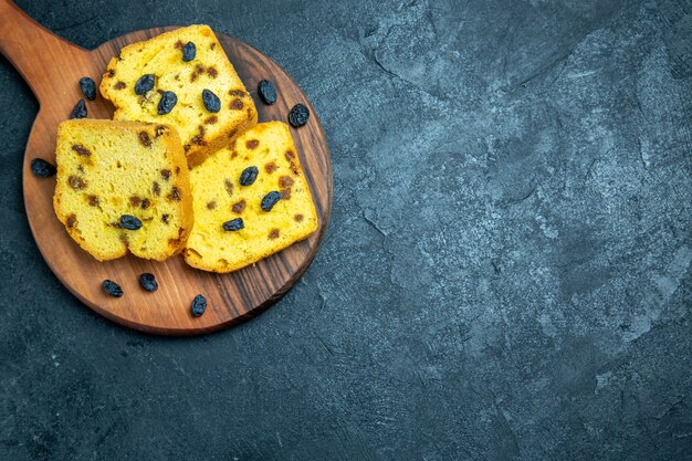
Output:
[[60,70],[87,59],[87,51],[31,19],[10,0],[0,0],[0,52],[22,74],[34,95],[49,101]]

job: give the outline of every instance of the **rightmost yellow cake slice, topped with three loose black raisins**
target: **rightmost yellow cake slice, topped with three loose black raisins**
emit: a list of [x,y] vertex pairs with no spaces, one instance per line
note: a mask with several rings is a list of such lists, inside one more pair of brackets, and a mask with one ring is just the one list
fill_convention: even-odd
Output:
[[198,269],[231,272],[305,239],[317,213],[287,125],[240,135],[190,171],[195,226],[182,252]]

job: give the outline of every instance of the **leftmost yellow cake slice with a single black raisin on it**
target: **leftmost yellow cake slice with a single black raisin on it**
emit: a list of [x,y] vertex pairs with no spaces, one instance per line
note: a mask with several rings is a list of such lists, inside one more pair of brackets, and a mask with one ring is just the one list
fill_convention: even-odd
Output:
[[182,249],[192,228],[192,195],[175,129],[66,121],[57,127],[55,158],[55,214],[94,258],[129,251],[161,261]]

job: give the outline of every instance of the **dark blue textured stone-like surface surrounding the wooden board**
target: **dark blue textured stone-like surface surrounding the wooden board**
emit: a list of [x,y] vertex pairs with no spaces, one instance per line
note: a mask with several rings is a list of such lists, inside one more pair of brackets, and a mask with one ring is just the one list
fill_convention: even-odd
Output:
[[0,60],[0,459],[692,459],[692,1],[29,1],[206,22],[305,90],[324,245],[260,317],[141,335],[41,259]]

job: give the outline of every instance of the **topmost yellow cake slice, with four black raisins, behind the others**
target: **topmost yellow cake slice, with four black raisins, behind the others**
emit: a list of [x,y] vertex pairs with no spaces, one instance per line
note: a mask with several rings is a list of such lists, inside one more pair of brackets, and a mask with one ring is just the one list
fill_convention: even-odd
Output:
[[190,166],[258,122],[252,97],[208,25],[190,25],[125,46],[101,93],[116,121],[174,126]]

